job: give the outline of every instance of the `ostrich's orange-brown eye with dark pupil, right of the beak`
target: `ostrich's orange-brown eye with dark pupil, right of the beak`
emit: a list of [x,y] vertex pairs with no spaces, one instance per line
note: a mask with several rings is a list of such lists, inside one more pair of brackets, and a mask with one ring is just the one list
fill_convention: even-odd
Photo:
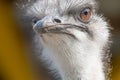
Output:
[[82,20],[83,22],[88,22],[92,16],[92,11],[90,8],[84,8],[81,12],[80,12],[80,20]]

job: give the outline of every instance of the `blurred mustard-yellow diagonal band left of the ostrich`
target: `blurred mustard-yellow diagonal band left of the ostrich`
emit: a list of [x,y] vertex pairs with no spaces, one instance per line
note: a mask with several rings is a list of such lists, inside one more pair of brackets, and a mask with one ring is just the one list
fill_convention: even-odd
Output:
[[25,58],[21,38],[11,5],[0,1],[0,74],[4,80],[37,80]]

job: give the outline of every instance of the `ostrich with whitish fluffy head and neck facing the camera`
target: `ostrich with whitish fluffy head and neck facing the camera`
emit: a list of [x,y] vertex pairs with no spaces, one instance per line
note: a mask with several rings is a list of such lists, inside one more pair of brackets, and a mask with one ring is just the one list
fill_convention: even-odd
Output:
[[22,24],[33,26],[39,58],[61,80],[108,79],[109,25],[97,7],[95,0],[28,0],[19,8]]

